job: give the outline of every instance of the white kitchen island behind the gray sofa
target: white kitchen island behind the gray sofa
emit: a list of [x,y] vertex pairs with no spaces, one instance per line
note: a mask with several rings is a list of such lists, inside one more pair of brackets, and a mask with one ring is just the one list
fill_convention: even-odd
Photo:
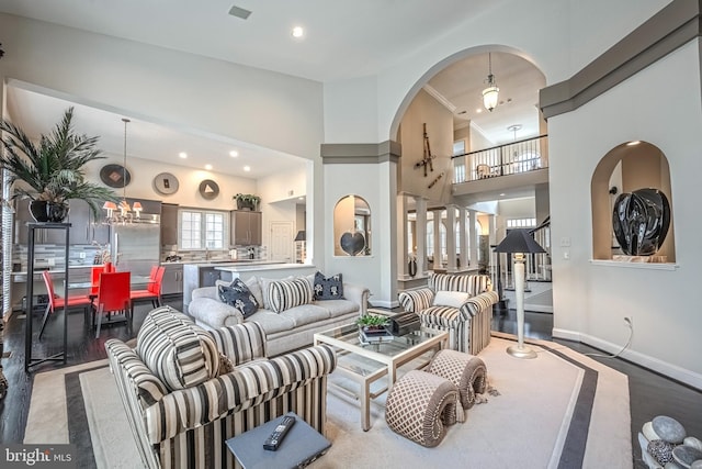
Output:
[[194,289],[214,287],[217,280],[231,281],[235,278],[247,280],[253,276],[281,279],[288,276],[309,275],[315,271],[317,268],[308,264],[285,264],[271,260],[184,264],[183,309],[188,311]]

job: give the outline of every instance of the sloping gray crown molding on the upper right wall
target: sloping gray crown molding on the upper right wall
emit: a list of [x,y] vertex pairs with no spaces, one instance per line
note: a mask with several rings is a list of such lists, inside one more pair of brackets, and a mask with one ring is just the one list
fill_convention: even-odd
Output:
[[675,0],[568,80],[543,88],[548,119],[574,111],[701,35],[702,0]]

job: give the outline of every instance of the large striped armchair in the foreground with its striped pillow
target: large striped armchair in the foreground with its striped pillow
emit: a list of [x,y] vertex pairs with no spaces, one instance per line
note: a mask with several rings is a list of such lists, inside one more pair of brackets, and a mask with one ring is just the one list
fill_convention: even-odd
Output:
[[135,348],[105,343],[110,367],[148,468],[240,467],[225,440],[288,411],[325,433],[327,346],[265,358],[257,323],[205,331],[163,306]]

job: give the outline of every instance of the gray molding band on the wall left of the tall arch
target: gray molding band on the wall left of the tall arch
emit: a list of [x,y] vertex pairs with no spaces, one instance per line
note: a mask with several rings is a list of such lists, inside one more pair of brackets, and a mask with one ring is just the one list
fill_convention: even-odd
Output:
[[397,163],[403,154],[401,145],[397,142],[381,143],[325,143],[321,144],[320,155],[322,164],[377,164]]

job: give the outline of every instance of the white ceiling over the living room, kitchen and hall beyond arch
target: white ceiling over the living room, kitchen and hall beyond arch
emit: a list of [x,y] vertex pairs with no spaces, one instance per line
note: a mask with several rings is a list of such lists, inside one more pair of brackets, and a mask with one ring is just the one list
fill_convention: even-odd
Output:
[[[431,46],[467,15],[483,14],[500,1],[435,0],[428,8],[429,2],[421,0],[0,0],[0,12],[328,81],[377,74],[408,54]],[[233,4],[252,11],[248,20],[229,15]],[[294,25],[305,27],[303,40],[291,36]],[[449,66],[429,85],[455,109],[458,125],[471,120],[495,144],[537,135],[535,105],[539,89],[545,85],[543,75],[518,56],[494,53],[492,72],[501,105],[491,113],[477,113],[487,72],[487,54],[476,55]],[[125,115],[35,91],[10,87],[8,94],[10,115],[31,134],[47,133],[64,110],[75,105],[76,129],[100,135],[105,153],[123,154]],[[210,163],[214,171],[239,176],[241,167],[249,165],[248,176],[253,179],[267,176],[272,168],[301,164],[297,158],[244,142],[126,116],[132,119],[127,130],[129,157],[199,169]],[[522,125],[517,135],[507,130],[513,124]],[[240,154],[236,164],[227,156],[231,149]],[[183,150],[189,154],[185,160],[177,156]],[[213,159],[212,155],[219,156]]]

